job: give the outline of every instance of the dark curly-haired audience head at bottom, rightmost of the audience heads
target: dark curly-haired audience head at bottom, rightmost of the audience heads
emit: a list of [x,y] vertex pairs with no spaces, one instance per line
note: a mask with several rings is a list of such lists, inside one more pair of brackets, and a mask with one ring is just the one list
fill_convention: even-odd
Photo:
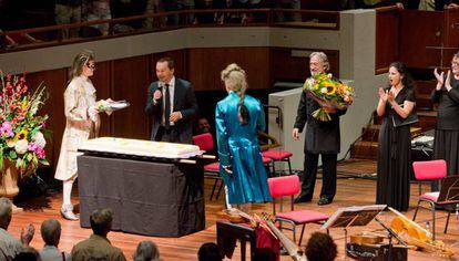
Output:
[[310,234],[306,244],[307,260],[333,261],[337,254],[336,243],[329,234],[323,232]]

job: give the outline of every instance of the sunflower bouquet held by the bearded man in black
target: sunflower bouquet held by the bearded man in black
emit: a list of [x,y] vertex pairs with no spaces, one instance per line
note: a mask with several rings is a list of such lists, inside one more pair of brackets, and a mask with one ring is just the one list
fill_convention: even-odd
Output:
[[324,109],[324,105],[344,109],[354,102],[354,88],[332,77],[332,74],[319,74],[308,77],[304,84],[307,95],[314,98],[320,107],[313,112],[313,117],[328,122],[330,115]]

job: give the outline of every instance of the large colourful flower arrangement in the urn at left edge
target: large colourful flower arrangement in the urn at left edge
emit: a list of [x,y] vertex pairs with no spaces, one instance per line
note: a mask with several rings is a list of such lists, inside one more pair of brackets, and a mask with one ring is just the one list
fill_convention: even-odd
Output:
[[26,74],[3,76],[0,71],[0,171],[4,160],[10,160],[21,175],[34,173],[39,164],[49,165],[43,136],[48,115],[37,115],[47,100],[45,87],[40,84],[29,92]]

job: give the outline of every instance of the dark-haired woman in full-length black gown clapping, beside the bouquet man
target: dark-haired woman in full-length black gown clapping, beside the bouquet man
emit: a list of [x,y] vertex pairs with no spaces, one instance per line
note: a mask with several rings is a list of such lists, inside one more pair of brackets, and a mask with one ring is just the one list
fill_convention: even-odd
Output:
[[400,211],[409,206],[411,168],[410,125],[394,125],[394,118],[406,119],[415,113],[415,84],[400,62],[389,66],[389,86],[379,88],[377,113],[384,116],[379,132],[378,180],[376,202]]

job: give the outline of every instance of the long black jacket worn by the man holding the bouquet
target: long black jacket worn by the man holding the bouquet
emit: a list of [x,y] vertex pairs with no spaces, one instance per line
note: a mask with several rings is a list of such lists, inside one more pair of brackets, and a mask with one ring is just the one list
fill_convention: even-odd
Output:
[[312,154],[338,154],[340,150],[339,116],[347,109],[337,109],[330,113],[332,121],[322,122],[313,117],[313,112],[319,108],[319,104],[308,97],[306,92],[302,93],[299,100],[295,128],[303,132],[306,123],[305,153]]

